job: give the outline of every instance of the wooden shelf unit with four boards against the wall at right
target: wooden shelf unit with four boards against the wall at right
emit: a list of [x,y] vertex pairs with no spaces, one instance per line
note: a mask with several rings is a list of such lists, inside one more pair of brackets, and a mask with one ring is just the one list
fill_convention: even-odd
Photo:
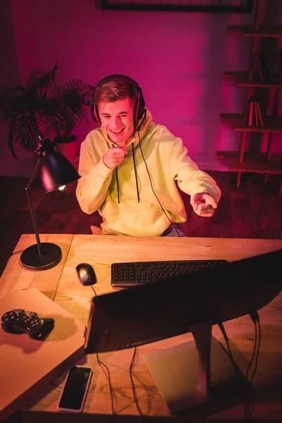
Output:
[[[267,0],[266,0],[267,1]],[[271,0],[269,0],[271,4]],[[282,174],[282,154],[278,154],[276,161],[273,162],[273,154],[271,153],[272,147],[272,134],[282,133],[282,116],[278,116],[278,94],[282,88],[282,69],[281,64],[278,69],[278,73],[270,73],[264,75],[261,78],[259,71],[255,64],[255,54],[259,54],[260,45],[262,38],[278,38],[282,37],[281,26],[265,26],[260,25],[262,20],[262,0],[257,0],[257,10],[255,12],[255,25],[229,25],[228,32],[237,32],[243,37],[252,38],[252,51],[250,56],[249,69],[246,72],[234,72],[226,71],[224,78],[226,80],[233,80],[238,87],[245,87],[247,89],[245,111],[241,114],[237,113],[222,113],[220,114],[220,120],[222,123],[230,125],[231,128],[241,133],[240,151],[238,152],[216,152],[217,158],[222,164],[228,166],[228,171],[238,172],[237,187],[240,187],[240,177],[243,172],[252,173],[264,173],[265,180],[267,180],[268,174],[279,175]],[[253,97],[255,90],[260,88],[266,88],[269,90],[275,90],[274,97],[276,103],[272,106],[272,110],[269,114],[262,116],[262,126],[256,126],[255,124],[248,125],[248,109],[250,99]],[[257,101],[257,100],[256,100]],[[267,134],[267,146],[266,153],[260,157],[250,156],[248,152],[245,152],[247,144],[247,137],[250,137],[251,133],[266,133]],[[256,142],[256,140],[255,140]],[[260,142],[260,141],[258,141]],[[282,194],[282,178],[281,188],[279,195]]]

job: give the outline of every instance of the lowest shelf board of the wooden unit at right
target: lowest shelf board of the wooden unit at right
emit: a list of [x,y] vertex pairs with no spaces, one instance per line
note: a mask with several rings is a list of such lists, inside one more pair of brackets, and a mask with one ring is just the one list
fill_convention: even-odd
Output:
[[250,157],[250,154],[246,152],[243,163],[239,163],[239,155],[239,152],[216,152],[217,159],[228,166],[229,172],[282,174],[282,154],[273,154],[271,160],[267,161],[264,153],[257,154],[256,157]]

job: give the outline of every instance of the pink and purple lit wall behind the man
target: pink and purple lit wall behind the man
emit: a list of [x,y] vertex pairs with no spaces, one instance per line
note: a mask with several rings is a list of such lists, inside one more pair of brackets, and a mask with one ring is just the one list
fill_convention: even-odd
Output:
[[[95,0],[1,1],[11,6],[9,42],[22,82],[31,67],[49,71],[56,61],[61,82],[80,78],[96,85],[112,73],[128,75],[142,87],[154,121],[182,137],[201,168],[225,170],[216,150],[238,149],[240,135],[220,123],[219,114],[242,111],[245,92],[223,72],[246,71],[251,47],[226,28],[252,23],[253,13],[102,11]],[[80,141],[94,125],[77,130]],[[274,139],[274,149],[280,141]],[[10,154],[2,157],[1,174],[30,174],[29,166],[15,162]]]

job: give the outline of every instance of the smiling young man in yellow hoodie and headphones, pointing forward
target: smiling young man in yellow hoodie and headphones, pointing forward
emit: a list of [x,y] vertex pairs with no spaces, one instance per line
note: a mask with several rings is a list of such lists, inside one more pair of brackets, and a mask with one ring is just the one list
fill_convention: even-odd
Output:
[[125,75],[94,89],[92,130],[80,147],[76,196],[83,212],[99,211],[102,234],[185,236],[178,187],[199,216],[212,216],[221,197],[215,180],[188,157],[182,140],[152,121],[142,90]]

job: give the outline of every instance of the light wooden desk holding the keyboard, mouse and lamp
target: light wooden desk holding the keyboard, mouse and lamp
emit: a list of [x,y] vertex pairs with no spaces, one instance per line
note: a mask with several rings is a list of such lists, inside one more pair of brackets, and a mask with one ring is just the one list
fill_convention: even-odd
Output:
[[[26,247],[33,243],[31,235],[22,235],[16,247]],[[42,235],[42,240],[45,240]],[[252,240],[226,238],[137,238],[103,235],[49,235],[48,241],[69,245],[66,262],[47,271],[26,271],[19,264],[19,257],[13,256],[1,277],[1,295],[16,288],[32,286],[54,299],[71,312],[76,318],[87,324],[90,302],[94,295],[90,286],[82,286],[75,274],[75,266],[88,262],[94,267],[97,295],[112,291],[110,286],[110,265],[112,262],[142,261],[155,259],[228,259],[234,261],[252,257],[264,252],[282,248],[282,240]],[[63,259],[64,260],[64,259]],[[63,269],[62,269],[63,267]],[[55,272],[55,273],[53,273]],[[51,277],[49,277],[51,275]],[[281,276],[280,276],[281,277]],[[57,287],[57,288],[56,288]],[[252,416],[257,419],[282,419],[282,294],[269,305],[259,310],[262,327],[259,364],[254,379],[255,405]],[[250,317],[240,317],[224,324],[235,362],[245,372],[254,347],[254,324]],[[223,336],[217,326],[213,326],[213,335],[224,344]],[[164,341],[158,341],[137,348],[137,357],[133,369],[133,379],[138,403],[142,413],[155,417],[154,421],[166,421],[170,416],[166,403],[161,398],[157,386],[143,360],[144,356],[159,348],[183,343],[192,339],[190,333]],[[127,422],[128,419],[142,421],[133,400],[130,382],[130,362],[133,349],[104,353],[99,359],[106,364],[111,375],[114,396],[114,421]],[[68,415],[56,412],[56,403],[66,374],[54,381],[23,410],[24,421],[68,422],[92,421],[90,413],[95,413],[95,422],[111,422],[111,393],[106,370],[99,367],[96,355],[87,355],[78,364],[88,364],[93,369],[90,391],[82,415]],[[180,421],[203,422],[206,418],[213,422],[228,422],[231,419],[244,420],[242,403],[222,399],[207,403],[190,410],[188,417],[178,417]],[[174,421],[171,417],[169,421]],[[145,419],[146,421],[146,419]]]

